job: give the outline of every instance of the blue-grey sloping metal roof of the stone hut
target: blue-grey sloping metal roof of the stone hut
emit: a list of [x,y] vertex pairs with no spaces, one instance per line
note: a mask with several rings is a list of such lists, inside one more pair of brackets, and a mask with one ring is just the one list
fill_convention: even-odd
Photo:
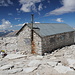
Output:
[[[28,26],[31,27],[31,24]],[[34,23],[33,27],[36,28],[34,31],[42,37],[74,31],[72,27],[62,23]]]

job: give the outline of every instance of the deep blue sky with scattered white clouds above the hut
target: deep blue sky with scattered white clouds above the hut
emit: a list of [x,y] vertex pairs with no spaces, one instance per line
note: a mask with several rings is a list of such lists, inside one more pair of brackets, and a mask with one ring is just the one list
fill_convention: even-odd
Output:
[[0,0],[0,30],[24,23],[66,23],[75,28],[75,0]]

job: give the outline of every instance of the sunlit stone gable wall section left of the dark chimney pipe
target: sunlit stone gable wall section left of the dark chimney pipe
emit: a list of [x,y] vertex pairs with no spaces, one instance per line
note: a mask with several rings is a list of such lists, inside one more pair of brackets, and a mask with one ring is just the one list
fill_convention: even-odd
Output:
[[18,49],[23,51],[23,53],[31,53],[31,29],[25,26],[23,30],[17,36],[18,39]]

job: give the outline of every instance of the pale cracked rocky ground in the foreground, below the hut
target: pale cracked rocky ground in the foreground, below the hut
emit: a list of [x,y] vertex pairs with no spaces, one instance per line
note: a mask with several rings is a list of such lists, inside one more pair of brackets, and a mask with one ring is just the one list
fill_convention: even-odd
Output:
[[0,75],[75,75],[75,45],[45,56],[8,54],[0,58]]

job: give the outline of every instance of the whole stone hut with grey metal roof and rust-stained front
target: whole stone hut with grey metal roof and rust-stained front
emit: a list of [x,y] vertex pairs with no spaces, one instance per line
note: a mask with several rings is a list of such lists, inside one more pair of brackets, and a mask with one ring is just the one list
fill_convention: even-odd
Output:
[[67,24],[34,23],[32,42],[31,26],[31,23],[25,24],[16,34],[18,49],[26,53],[42,55],[74,43],[74,29]]

